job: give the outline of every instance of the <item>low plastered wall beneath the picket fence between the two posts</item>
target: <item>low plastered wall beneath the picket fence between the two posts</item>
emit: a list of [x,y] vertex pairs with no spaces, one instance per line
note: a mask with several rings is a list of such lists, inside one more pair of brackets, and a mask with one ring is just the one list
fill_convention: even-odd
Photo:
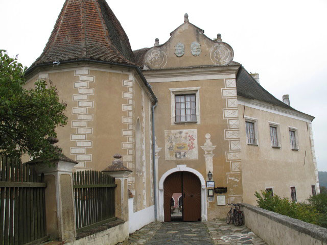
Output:
[[[95,228],[96,229],[96,228]],[[65,243],[67,245],[115,245],[128,239],[128,222],[101,230],[91,235],[82,237],[76,241]]]

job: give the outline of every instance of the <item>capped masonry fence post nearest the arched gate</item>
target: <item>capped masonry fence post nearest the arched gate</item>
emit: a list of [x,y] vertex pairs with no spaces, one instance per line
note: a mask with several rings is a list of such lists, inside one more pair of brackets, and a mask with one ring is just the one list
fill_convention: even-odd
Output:
[[132,173],[132,170],[123,165],[121,160],[122,155],[115,154],[112,164],[107,166],[103,173],[108,174],[115,178],[115,215],[128,221],[128,175]]

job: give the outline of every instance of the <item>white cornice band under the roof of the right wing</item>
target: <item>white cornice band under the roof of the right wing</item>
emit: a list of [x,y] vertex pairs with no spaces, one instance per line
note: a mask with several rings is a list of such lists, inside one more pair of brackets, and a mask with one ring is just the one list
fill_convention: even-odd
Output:
[[271,112],[271,113],[282,115],[282,116],[291,117],[291,118],[306,121],[306,122],[311,122],[314,119],[313,116],[302,113],[302,112],[294,111],[294,110],[287,109],[287,108],[282,108],[279,106],[274,106],[274,105],[271,105],[269,103],[265,103],[262,101],[250,100],[250,99],[247,99],[242,96],[238,96],[238,104],[247,106],[247,107],[251,107],[254,109],[262,110],[262,111]]

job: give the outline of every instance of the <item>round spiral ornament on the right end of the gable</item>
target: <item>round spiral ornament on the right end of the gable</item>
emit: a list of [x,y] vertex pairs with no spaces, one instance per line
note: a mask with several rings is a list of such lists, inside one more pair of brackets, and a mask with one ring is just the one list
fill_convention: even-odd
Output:
[[220,42],[212,48],[210,58],[217,65],[228,65],[234,58],[234,51],[229,44]]

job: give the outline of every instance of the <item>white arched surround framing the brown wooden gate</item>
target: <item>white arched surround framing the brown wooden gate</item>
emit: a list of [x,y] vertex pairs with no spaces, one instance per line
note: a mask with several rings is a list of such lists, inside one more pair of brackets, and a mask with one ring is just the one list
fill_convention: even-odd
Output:
[[186,167],[186,165],[177,165],[177,167],[168,170],[165,174],[163,174],[159,181],[159,221],[165,221],[165,214],[164,214],[164,182],[166,178],[175,172],[178,171],[188,171],[190,173],[195,174],[200,182],[201,182],[201,221],[207,221],[207,206],[206,206],[206,188],[205,188],[205,180],[201,173],[191,167]]

